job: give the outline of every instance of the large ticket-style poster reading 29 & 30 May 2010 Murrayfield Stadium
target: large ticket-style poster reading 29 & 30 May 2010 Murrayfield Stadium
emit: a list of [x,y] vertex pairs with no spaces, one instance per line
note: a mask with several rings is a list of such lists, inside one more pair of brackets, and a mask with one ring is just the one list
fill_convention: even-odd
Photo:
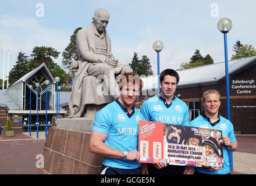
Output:
[[222,131],[142,120],[139,127],[141,163],[223,167]]

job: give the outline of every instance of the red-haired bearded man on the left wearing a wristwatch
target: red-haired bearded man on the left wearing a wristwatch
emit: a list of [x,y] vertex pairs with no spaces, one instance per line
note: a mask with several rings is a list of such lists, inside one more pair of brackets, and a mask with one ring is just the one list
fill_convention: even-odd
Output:
[[140,112],[134,102],[143,86],[136,73],[121,74],[119,98],[99,110],[90,138],[90,151],[104,156],[101,174],[141,174],[138,152]]

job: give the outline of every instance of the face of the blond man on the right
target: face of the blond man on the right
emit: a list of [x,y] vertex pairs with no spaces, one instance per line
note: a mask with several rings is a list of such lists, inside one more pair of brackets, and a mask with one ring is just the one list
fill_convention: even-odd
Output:
[[204,105],[205,113],[208,115],[215,115],[218,113],[219,106],[221,106],[221,100],[219,99],[218,94],[211,93],[205,96],[205,101],[202,102]]

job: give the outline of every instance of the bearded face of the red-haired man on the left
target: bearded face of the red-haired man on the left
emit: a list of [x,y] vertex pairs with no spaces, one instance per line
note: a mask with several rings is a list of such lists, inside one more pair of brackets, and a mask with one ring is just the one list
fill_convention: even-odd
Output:
[[133,105],[136,101],[138,95],[140,95],[140,84],[138,83],[125,83],[122,86],[122,89],[119,90],[119,98],[123,102],[123,106],[127,107]]

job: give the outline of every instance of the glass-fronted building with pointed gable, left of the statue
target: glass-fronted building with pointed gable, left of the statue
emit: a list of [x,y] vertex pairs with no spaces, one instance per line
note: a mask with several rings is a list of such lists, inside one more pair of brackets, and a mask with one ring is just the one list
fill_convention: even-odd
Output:
[[[46,80],[49,80],[49,85],[45,84]],[[35,87],[35,83],[39,83],[40,86]],[[31,90],[29,85],[33,87]],[[47,125],[52,127],[53,119],[56,117],[55,80],[44,63],[7,88],[6,93],[19,107],[19,110],[9,110],[9,113],[19,115],[17,118],[14,117],[12,122],[22,123],[22,132],[29,132],[30,122],[32,132],[37,131],[37,124],[39,131],[45,131],[46,112]]]

